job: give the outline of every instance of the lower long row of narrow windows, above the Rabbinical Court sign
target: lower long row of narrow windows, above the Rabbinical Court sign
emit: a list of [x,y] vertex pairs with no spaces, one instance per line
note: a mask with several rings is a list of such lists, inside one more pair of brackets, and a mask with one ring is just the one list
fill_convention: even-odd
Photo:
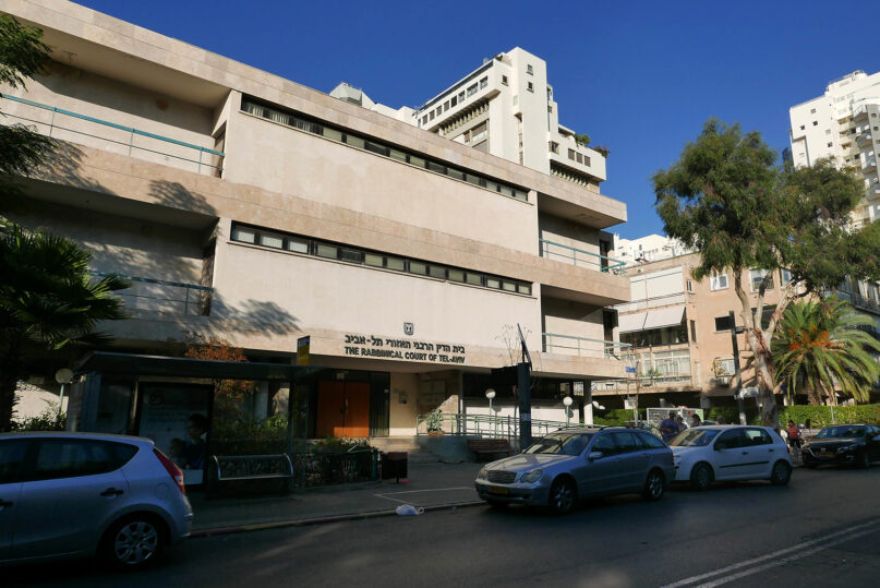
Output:
[[328,241],[318,241],[316,239],[309,239],[306,237],[300,237],[291,233],[269,231],[245,225],[236,224],[232,226],[232,240],[241,243],[251,243],[272,249],[304,253],[306,255],[324,257],[325,260],[337,260],[341,262],[369,265],[371,267],[390,269],[393,272],[402,272],[419,276],[445,279],[448,281],[457,281],[459,284],[468,284],[471,286],[482,286],[484,288],[492,288],[506,292],[521,295],[532,293],[532,286],[527,281],[503,278],[491,274],[483,274],[481,272],[461,269],[459,267],[450,267],[447,265],[420,260],[389,255],[386,253],[341,245]]

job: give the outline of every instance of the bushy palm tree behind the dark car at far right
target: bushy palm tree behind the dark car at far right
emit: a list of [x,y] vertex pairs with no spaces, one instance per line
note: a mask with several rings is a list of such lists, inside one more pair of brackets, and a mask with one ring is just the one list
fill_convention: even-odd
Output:
[[880,341],[857,327],[869,324],[871,319],[836,298],[789,305],[773,339],[776,382],[789,396],[805,389],[810,404],[833,397],[835,389],[868,400],[880,376],[870,351],[880,351]]

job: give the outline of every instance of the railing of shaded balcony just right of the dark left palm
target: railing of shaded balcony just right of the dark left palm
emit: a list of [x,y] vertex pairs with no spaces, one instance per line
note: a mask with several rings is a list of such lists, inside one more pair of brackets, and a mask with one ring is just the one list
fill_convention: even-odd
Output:
[[210,313],[214,288],[207,286],[107,272],[91,272],[91,274],[96,277],[117,275],[132,283],[131,288],[116,292],[124,302],[126,312],[148,311],[185,316],[207,316]]

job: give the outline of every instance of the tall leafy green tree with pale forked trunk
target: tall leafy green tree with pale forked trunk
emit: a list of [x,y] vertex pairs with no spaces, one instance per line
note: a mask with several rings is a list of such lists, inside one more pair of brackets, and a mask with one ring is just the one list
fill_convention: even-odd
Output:
[[[864,189],[830,160],[811,168],[779,168],[759,133],[710,119],[667,170],[653,176],[656,209],[666,233],[701,254],[696,278],[730,272],[754,353],[761,420],[775,427],[773,357],[776,323],[796,298],[855,279],[880,278],[880,225],[851,227]],[[752,301],[748,269],[768,271]],[[785,268],[780,302],[762,328],[764,295],[773,271]],[[746,274],[747,275],[747,274]],[[752,310],[754,309],[754,310]]]

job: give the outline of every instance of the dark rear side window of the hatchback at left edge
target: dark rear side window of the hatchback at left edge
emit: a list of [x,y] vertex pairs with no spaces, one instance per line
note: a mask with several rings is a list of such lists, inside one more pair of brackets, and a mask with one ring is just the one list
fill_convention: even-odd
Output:
[[27,481],[106,473],[122,467],[135,453],[133,445],[109,441],[41,440]]

